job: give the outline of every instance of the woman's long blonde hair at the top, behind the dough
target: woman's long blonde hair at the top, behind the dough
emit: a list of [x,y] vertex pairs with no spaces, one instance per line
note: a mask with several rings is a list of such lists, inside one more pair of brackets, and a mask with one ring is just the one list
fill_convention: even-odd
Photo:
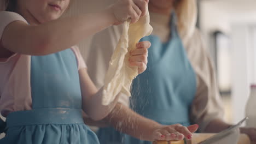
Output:
[[174,9],[178,18],[179,35],[183,40],[187,40],[194,33],[196,26],[196,0],[176,0]]

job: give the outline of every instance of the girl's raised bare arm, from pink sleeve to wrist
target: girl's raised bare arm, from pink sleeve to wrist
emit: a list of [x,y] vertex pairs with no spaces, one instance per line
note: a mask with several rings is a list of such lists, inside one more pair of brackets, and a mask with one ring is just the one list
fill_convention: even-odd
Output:
[[10,23],[2,37],[3,45],[12,52],[47,55],[68,49],[80,40],[112,26],[115,17],[110,9],[50,21],[38,26],[23,22]]

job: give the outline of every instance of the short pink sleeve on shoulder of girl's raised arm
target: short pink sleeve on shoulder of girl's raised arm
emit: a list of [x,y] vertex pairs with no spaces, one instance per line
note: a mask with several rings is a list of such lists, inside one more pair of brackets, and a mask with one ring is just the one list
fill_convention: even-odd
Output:
[[27,23],[21,15],[9,11],[0,11],[0,21],[0,39],[2,39],[4,29],[9,25],[9,23],[14,21],[24,21]]

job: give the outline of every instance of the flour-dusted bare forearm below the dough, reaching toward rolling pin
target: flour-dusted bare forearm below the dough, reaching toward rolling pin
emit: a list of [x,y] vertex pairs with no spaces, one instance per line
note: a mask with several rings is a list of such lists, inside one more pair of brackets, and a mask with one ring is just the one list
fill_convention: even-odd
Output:
[[153,131],[156,128],[160,128],[162,125],[138,115],[132,111],[129,107],[118,103],[112,112],[104,118],[115,129],[126,133],[137,139],[153,141]]

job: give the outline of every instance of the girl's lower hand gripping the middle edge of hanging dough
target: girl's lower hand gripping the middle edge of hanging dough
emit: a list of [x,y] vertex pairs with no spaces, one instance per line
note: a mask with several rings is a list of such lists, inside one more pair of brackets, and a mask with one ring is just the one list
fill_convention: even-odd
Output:
[[143,73],[147,69],[148,48],[151,46],[149,41],[142,41],[136,44],[136,49],[130,51],[131,57],[129,62],[131,66],[138,67],[138,74]]

